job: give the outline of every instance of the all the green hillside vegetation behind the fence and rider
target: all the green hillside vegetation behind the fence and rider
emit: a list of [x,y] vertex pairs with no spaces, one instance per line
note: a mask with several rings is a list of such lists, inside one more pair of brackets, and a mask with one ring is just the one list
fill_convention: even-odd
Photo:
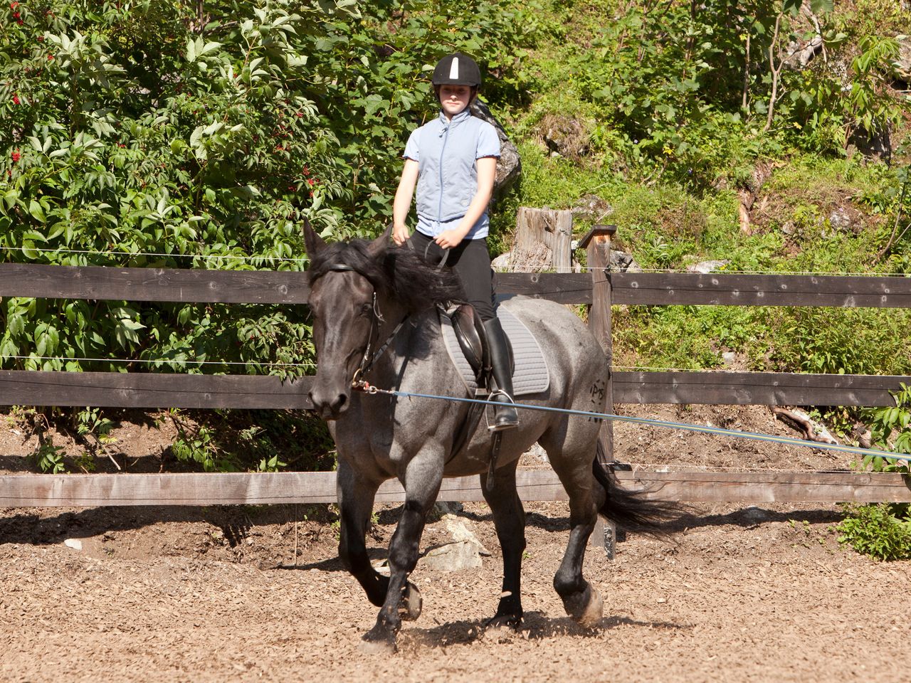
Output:
[[[901,6],[9,3],[0,249],[35,263],[304,270],[304,217],[329,240],[383,229],[398,150],[435,113],[427,71],[462,50],[522,157],[493,209],[497,251],[518,206],[549,206],[578,209],[579,233],[616,223],[618,249],[643,268],[911,274]],[[617,311],[617,362],[719,368],[735,352],[756,370],[911,373],[909,311],[770,313]],[[286,375],[314,360],[305,310],[20,297],[0,318],[7,369],[241,362]],[[248,441],[265,443],[252,463],[214,430],[177,452],[273,469],[270,419],[251,420]]]

